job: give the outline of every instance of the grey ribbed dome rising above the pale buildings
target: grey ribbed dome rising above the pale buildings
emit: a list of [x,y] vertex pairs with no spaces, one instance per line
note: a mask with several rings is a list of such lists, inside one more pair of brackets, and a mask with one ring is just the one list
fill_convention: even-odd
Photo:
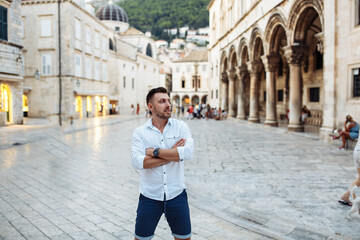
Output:
[[124,9],[117,4],[114,4],[112,0],[110,0],[105,6],[100,7],[96,11],[95,15],[100,20],[129,23],[129,19]]

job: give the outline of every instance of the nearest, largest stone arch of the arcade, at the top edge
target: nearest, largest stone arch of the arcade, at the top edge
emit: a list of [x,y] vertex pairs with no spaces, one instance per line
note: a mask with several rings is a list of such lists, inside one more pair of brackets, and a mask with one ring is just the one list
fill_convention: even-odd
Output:
[[291,7],[288,30],[290,43],[304,43],[306,28],[319,17],[321,29],[324,29],[324,3],[322,0],[298,0]]

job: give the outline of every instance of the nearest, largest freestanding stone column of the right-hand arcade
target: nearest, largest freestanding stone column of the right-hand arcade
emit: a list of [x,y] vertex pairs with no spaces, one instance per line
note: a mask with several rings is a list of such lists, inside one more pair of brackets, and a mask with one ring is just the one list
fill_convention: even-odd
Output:
[[290,65],[290,100],[289,100],[289,125],[288,130],[303,132],[301,123],[301,64],[304,59],[306,46],[292,45],[284,48],[285,57]]

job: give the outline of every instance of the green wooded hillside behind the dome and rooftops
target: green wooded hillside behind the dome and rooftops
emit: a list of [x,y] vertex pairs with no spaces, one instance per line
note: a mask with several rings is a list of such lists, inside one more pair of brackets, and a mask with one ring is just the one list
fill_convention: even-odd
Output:
[[163,29],[208,26],[208,3],[209,0],[124,0],[117,4],[126,11],[131,26],[170,40]]

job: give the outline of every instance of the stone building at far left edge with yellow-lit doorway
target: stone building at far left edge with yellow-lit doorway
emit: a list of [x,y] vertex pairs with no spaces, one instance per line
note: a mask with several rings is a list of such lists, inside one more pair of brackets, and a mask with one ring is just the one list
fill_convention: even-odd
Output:
[[0,1],[0,126],[23,122],[21,0]]

